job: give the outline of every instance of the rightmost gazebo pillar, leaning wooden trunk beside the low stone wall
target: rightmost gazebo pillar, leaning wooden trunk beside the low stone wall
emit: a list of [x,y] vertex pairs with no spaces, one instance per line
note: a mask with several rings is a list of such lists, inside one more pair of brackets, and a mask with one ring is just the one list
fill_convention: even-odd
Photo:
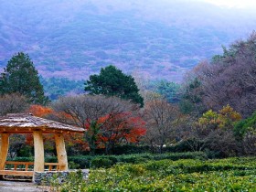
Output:
[[68,170],[68,157],[65,148],[64,137],[62,133],[55,134],[56,151],[58,156],[58,163],[65,164],[65,166],[59,166],[60,171]]

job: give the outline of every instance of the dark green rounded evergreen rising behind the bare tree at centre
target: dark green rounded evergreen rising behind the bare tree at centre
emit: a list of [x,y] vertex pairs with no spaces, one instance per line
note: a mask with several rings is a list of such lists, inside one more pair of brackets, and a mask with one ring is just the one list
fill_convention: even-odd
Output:
[[90,91],[91,94],[116,96],[144,105],[133,77],[123,74],[122,70],[112,65],[101,69],[99,75],[91,75],[90,80],[85,83],[85,91]]

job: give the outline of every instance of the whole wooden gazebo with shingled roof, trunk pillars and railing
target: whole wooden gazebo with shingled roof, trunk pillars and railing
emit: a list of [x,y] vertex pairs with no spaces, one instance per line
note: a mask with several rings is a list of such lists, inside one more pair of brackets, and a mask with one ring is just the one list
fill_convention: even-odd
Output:
[[[68,157],[64,143],[64,133],[82,133],[83,128],[58,123],[25,113],[11,113],[0,117],[0,176],[33,176],[34,172],[68,170]],[[9,135],[12,133],[33,133],[35,160],[34,162],[6,161],[9,147]],[[45,163],[43,133],[54,133],[58,163]],[[5,165],[12,166],[6,170]],[[23,168],[18,168],[20,165]],[[31,168],[31,166],[34,166]]]

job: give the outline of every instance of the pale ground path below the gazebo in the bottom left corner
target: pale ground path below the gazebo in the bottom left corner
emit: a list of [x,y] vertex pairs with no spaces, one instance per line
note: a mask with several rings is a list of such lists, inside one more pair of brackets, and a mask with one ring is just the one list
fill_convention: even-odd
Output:
[[1,192],[48,192],[47,187],[38,187],[34,183],[15,182],[15,181],[0,181]]

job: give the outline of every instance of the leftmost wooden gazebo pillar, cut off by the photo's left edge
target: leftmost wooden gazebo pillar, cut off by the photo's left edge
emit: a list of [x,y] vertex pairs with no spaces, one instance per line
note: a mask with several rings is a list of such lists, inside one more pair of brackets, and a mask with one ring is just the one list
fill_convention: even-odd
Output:
[[0,144],[0,170],[5,169],[5,161],[8,155],[9,148],[9,133],[1,134],[1,144]]

